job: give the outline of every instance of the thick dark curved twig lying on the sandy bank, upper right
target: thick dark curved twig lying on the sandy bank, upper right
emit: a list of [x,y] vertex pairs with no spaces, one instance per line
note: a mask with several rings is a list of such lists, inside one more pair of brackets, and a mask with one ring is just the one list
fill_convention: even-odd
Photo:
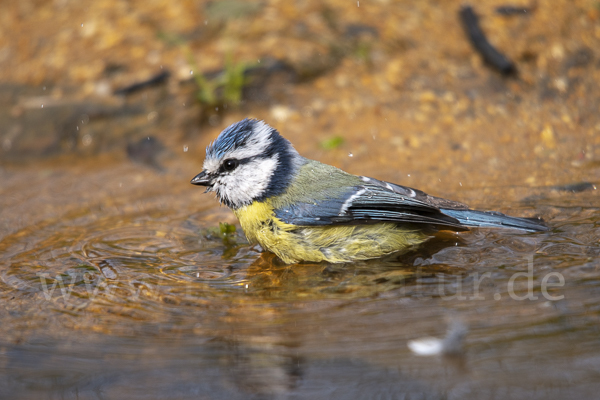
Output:
[[470,6],[463,6],[459,12],[463,27],[471,44],[492,67],[496,68],[503,75],[510,75],[516,72],[515,65],[504,54],[500,53],[485,37],[485,34],[479,26],[477,15]]

